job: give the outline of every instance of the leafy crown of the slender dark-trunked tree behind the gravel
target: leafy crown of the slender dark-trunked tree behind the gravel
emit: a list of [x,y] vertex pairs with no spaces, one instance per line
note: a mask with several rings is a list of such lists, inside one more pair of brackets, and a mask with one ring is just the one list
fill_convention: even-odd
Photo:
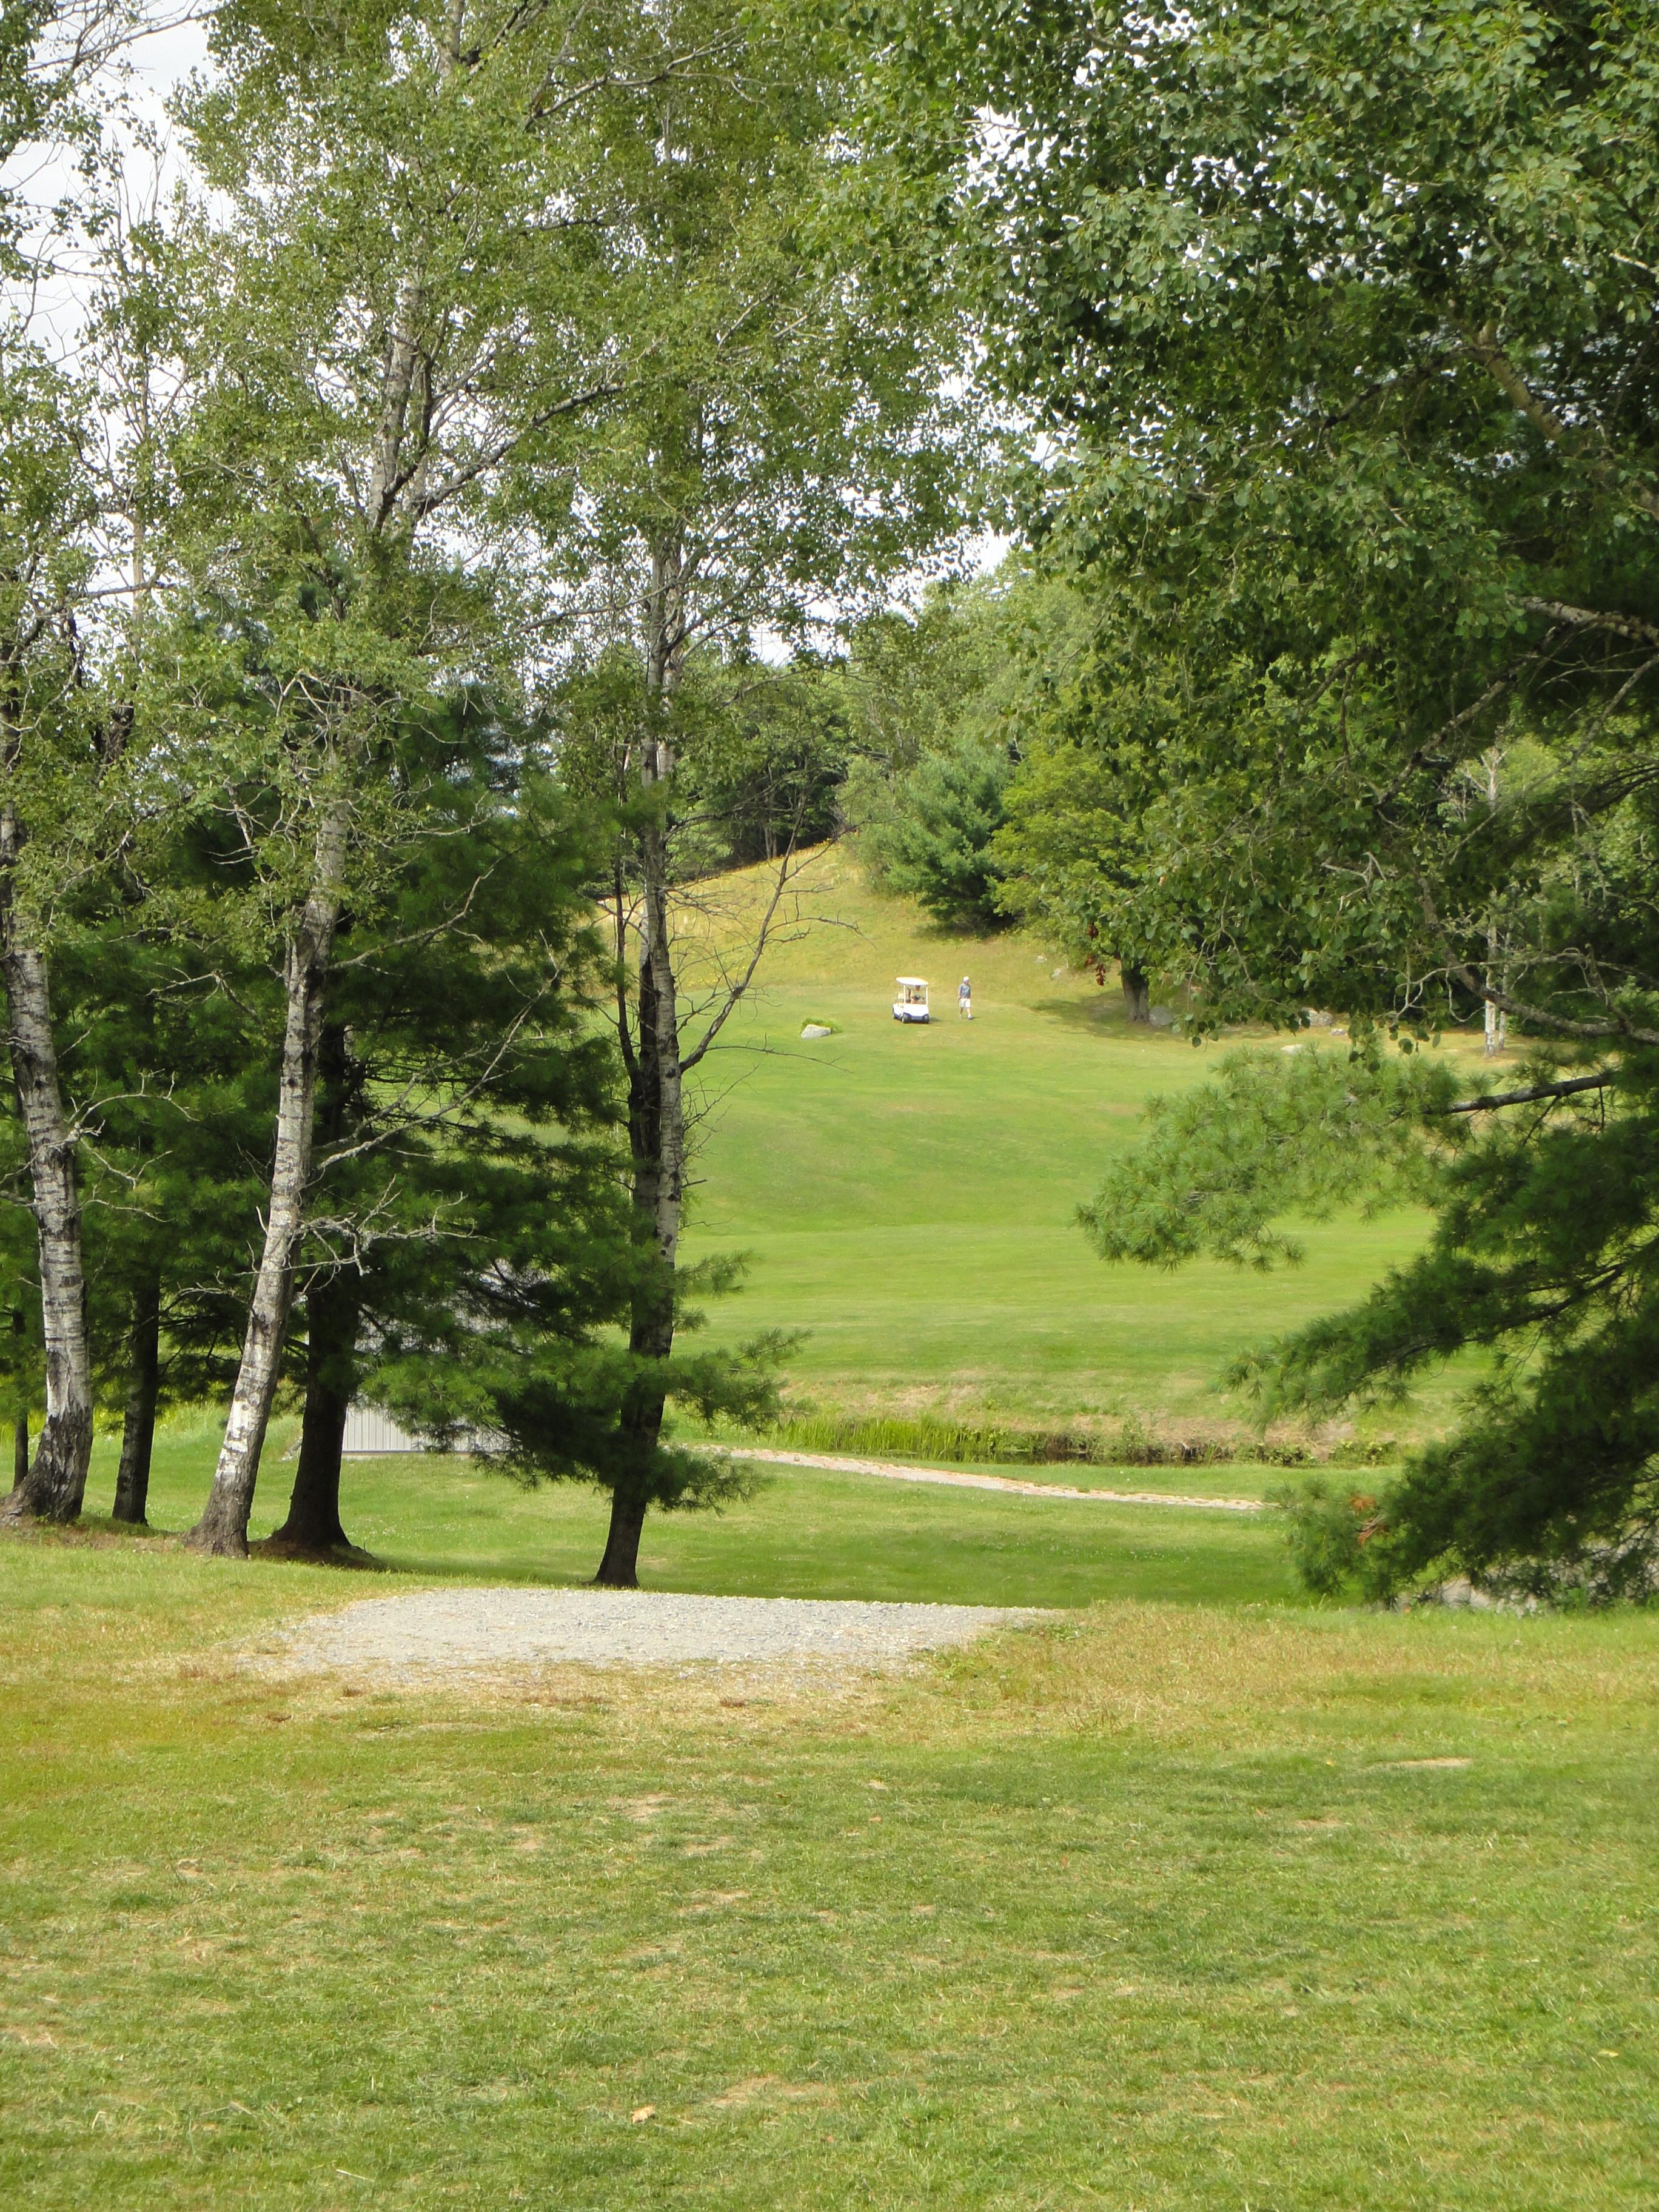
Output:
[[894,170],[863,144],[832,13],[675,0],[591,35],[639,46],[633,75],[595,71],[591,168],[566,186],[571,250],[595,241],[630,374],[575,511],[540,467],[515,482],[546,526],[546,584],[564,582],[588,644],[641,655],[666,591],[672,664],[761,630],[805,644],[825,604],[876,602],[960,526],[960,305],[891,281]]

